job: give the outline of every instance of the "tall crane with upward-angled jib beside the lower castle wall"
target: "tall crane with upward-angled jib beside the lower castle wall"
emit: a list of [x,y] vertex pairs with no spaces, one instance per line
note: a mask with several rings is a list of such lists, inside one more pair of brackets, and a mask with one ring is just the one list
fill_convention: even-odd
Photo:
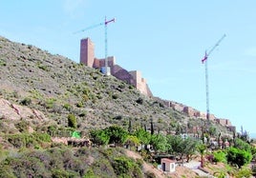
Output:
[[209,107],[209,84],[208,84],[208,67],[207,67],[207,59],[211,52],[216,49],[220,43],[224,40],[225,34],[222,36],[222,38],[213,46],[212,49],[210,49],[208,52],[205,50],[205,54],[203,59],[201,60],[205,67],[205,91],[206,91],[206,119],[209,121],[210,119],[210,107]]

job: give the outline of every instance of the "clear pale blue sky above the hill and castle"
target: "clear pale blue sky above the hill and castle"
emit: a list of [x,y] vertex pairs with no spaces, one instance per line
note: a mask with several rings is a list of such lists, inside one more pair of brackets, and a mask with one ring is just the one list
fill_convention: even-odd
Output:
[[204,51],[226,34],[208,58],[210,112],[256,132],[255,0],[0,0],[0,35],[79,62],[80,39],[138,69],[155,96],[205,110]]

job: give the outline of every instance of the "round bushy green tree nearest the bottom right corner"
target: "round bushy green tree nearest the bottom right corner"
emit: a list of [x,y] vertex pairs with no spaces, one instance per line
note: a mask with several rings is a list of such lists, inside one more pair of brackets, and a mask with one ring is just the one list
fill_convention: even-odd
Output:
[[237,165],[238,168],[248,164],[251,161],[252,155],[249,151],[239,148],[228,148],[226,159],[231,165]]

